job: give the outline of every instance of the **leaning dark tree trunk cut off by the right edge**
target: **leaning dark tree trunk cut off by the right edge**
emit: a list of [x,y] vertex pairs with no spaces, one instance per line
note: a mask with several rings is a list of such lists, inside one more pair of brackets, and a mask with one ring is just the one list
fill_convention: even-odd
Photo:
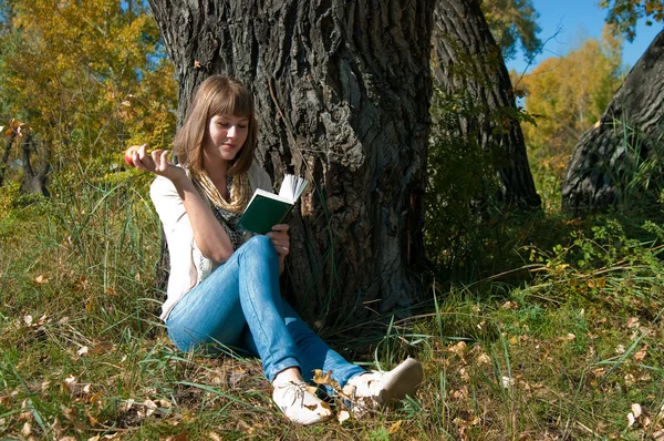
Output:
[[[664,158],[664,31],[620,86],[599,123],[581,136],[562,184],[572,211],[601,209],[652,194]],[[654,165],[649,170],[650,162]],[[660,187],[661,188],[661,187]]]

